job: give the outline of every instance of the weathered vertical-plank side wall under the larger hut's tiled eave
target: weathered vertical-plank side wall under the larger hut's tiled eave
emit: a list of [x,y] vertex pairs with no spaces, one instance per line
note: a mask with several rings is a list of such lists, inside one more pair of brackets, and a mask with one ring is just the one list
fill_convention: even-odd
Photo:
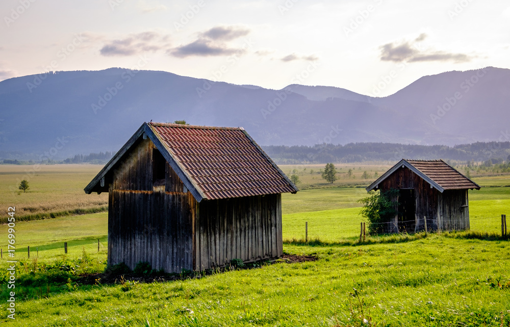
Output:
[[282,256],[281,201],[275,194],[197,204],[195,269]]

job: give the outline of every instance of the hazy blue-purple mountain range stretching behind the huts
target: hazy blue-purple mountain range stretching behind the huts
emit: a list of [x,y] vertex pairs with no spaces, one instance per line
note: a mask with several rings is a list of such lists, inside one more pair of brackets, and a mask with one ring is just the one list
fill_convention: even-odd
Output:
[[22,76],[0,82],[0,157],[117,151],[150,120],[242,126],[261,145],[509,141],[509,91],[510,70],[493,67],[424,76],[384,98],[121,68]]

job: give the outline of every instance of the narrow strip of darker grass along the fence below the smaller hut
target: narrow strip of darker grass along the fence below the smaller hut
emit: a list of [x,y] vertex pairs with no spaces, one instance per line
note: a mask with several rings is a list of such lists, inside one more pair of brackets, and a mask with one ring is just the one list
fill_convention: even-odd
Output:
[[304,239],[286,239],[285,244],[294,246],[305,247],[326,247],[326,246],[362,246],[370,244],[389,244],[389,243],[404,243],[412,242],[424,238],[437,239],[439,237],[457,238],[457,239],[479,239],[486,241],[504,241],[509,240],[510,236],[501,236],[495,232],[476,232],[476,231],[436,231],[432,233],[419,232],[414,234],[400,233],[400,234],[379,234],[374,236],[367,236],[364,241],[360,241],[358,237],[350,237],[340,239],[338,241],[324,241],[320,238],[310,239],[308,242]]

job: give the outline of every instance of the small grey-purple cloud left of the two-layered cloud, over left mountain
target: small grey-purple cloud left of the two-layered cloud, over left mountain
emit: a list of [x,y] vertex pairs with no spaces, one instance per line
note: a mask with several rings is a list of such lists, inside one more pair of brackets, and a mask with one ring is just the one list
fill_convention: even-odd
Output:
[[132,56],[141,52],[155,52],[167,46],[168,36],[156,32],[142,32],[107,41],[99,52],[103,56]]

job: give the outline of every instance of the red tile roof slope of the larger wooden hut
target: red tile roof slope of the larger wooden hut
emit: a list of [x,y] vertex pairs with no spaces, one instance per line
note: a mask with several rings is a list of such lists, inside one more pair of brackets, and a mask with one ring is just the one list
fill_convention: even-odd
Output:
[[297,191],[242,128],[149,124],[207,199]]

